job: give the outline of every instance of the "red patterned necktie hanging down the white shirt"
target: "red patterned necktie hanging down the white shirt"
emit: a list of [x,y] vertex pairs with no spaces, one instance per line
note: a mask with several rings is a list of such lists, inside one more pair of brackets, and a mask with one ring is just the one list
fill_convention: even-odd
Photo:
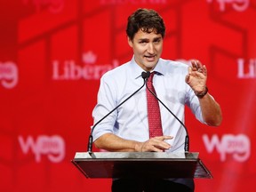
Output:
[[[156,91],[153,86],[153,76],[155,72],[151,73],[148,77],[148,88],[156,94]],[[147,101],[148,101],[148,127],[149,127],[149,138],[162,136],[162,123],[160,116],[160,109],[158,100],[154,97],[154,95],[148,91],[147,89]]]

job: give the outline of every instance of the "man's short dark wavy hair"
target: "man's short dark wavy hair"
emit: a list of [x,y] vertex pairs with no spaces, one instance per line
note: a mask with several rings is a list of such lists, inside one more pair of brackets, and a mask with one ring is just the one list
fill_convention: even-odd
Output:
[[138,9],[128,17],[126,34],[132,40],[134,35],[139,31],[161,34],[164,38],[165,26],[162,17],[154,10]]

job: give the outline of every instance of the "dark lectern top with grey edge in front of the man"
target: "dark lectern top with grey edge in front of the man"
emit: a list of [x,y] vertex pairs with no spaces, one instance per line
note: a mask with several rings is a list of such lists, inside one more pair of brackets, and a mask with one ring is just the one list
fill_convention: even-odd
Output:
[[212,179],[199,153],[77,152],[71,161],[86,178]]

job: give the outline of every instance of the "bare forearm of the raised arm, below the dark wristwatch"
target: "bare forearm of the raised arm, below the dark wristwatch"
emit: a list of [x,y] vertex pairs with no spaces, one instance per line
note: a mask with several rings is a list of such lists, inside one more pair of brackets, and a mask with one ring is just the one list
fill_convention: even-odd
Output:
[[198,98],[202,109],[204,122],[210,126],[219,126],[222,122],[220,105],[207,93],[203,98]]

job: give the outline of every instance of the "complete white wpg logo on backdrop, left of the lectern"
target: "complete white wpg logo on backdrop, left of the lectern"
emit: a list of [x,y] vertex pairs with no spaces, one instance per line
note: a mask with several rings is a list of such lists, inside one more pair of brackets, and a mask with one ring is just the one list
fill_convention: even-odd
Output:
[[65,142],[58,135],[53,135],[52,137],[41,135],[37,140],[33,140],[32,136],[28,136],[27,140],[19,136],[18,140],[24,154],[28,154],[31,148],[37,163],[41,161],[42,155],[47,156],[53,163],[59,163],[65,157]]

